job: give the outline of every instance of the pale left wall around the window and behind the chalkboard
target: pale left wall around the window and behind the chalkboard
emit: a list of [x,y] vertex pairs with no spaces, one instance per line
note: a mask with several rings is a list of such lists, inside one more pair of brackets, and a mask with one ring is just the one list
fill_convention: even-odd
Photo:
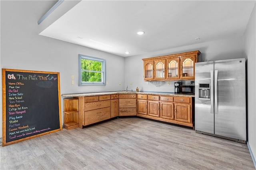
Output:
[[[124,89],[124,57],[38,35],[37,21],[43,15],[38,14],[38,11],[44,9],[45,2],[0,1],[0,68],[60,72],[61,94]],[[78,54],[106,59],[107,86],[78,86]],[[75,77],[74,85],[71,84],[72,75]],[[122,85],[119,85],[119,81]],[[2,96],[2,90],[0,93]],[[0,103],[2,111],[2,98]],[[61,108],[63,108],[63,97]],[[61,112],[63,114],[63,111]],[[0,135],[2,137],[2,123]]]

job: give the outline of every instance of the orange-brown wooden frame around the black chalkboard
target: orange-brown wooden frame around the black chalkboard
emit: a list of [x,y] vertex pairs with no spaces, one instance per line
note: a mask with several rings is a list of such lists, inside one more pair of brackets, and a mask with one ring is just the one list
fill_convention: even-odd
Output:
[[[58,101],[54,101],[54,103],[56,103],[56,105],[58,105],[58,106],[56,106],[56,108],[58,108],[58,111],[56,111],[56,113],[54,113],[54,115],[56,114],[55,116],[59,117],[59,119],[58,119],[58,125],[54,125],[55,128],[53,130],[47,129],[46,132],[42,131],[42,132],[35,133],[35,135],[32,134],[31,136],[24,137],[24,138],[21,138],[21,139],[9,141],[9,142],[6,141],[6,136],[7,136],[6,135],[6,121],[8,121],[7,116],[6,116],[6,108],[7,108],[6,93],[8,93],[7,88],[6,88],[6,81],[8,81],[10,79],[10,78],[7,79],[6,72],[14,72],[14,73],[20,73],[20,74],[26,73],[26,74],[31,74],[31,75],[46,74],[46,75],[52,75],[52,77],[55,77],[55,80],[57,78],[58,87],[55,87],[54,90],[58,90],[58,93],[57,92],[54,93],[54,95],[55,95],[54,99],[58,98]],[[50,78],[49,78],[49,80],[50,80]],[[37,101],[34,100],[33,102],[37,102]],[[45,106],[45,107],[47,107],[47,106]],[[10,145],[10,144],[17,143],[17,142],[20,142],[20,141],[28,140],[28,139],[31,139],[31,138],[34,138],[34,137],[39,137],[39,136],[46,135],[46,134],[49,134],[49,133],[54,133],[54,132],[60,131],[60,130],[62,130],[62,117],[61,117],[61,104],[60,104],[60,73],[59,72],[17,70],[17,69],[2,68],[2,146],[4,147],[6,145]]]

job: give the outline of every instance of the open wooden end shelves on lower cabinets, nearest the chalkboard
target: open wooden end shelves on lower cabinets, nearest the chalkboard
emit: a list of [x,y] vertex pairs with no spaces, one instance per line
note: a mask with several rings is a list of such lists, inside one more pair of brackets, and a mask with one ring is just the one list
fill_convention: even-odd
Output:
[[78,127],[78,98],[64,99],[64,123],[65,129]]

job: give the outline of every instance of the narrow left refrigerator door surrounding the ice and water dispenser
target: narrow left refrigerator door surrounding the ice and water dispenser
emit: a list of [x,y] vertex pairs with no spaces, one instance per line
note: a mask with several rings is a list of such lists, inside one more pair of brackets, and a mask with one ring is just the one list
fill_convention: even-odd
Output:
[[210,84],[213,94],[213,61],[195,63],[195,130],[214,134],[214,98],[201,99],[199,83]]

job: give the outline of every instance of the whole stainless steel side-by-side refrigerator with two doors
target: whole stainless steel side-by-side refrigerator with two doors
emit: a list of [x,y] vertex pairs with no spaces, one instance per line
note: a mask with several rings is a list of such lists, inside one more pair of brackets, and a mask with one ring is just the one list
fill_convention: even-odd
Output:
[[244,58],[195,63],[195,130],[246,143]]

